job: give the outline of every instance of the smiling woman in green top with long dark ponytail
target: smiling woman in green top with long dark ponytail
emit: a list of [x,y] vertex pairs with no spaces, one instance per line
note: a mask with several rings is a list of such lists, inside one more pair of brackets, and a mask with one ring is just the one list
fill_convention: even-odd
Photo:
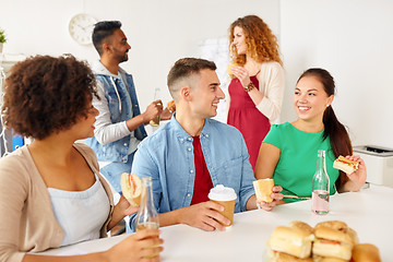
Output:
[[[353,156],[349,135],[337,120],[332,102],[335,84],[323,69],[309,69],[297,82],[294,106],[298,119],[275,124],[261,145],[255,178],[272,178],[274,201],[261,207],[272,210],[277,204],[293,202],[286,194],[311,196],[312,176],[317,168],[318,150],[326,151],[326,171],[331,180],[330,193],[358,191],[366,181],[365,162]],[[353,174],[338,172],[333,162],[344,155],[359,163]]]

